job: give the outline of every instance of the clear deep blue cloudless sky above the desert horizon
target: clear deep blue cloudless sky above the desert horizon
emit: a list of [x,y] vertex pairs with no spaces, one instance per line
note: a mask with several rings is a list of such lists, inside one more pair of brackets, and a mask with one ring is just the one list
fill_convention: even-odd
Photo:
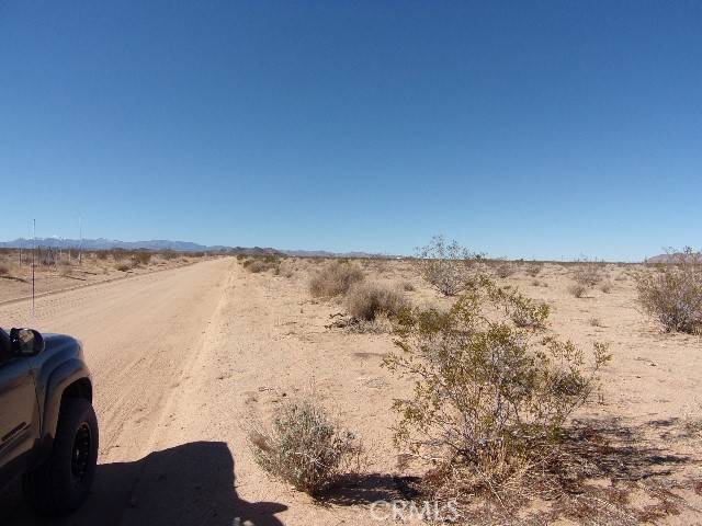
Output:
[[1,1],[0,239],[702,245],[700,1]]

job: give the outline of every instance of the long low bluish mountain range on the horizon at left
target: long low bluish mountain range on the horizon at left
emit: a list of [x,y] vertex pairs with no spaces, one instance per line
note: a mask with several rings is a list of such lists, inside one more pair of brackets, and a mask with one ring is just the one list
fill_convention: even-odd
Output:
[[63,239],[63,238],[18,238],[12,241],[0,241],[0,248],[4,249],[31,249],[34,243],[38,247],[50,247],[53,249],[77,249],[83,250],[174,250],[177,252],[227,252],[231,254],[250,255],[294,255],[299,258],[388,258],[383,254],[371,254],[367,252],[328,252],[325,250],[278,250],[262,247],[226,247],[222,244],[205,245],[191,241],[169,241],[166,239],[152,239],[150,241],[120,241],[116,239]]

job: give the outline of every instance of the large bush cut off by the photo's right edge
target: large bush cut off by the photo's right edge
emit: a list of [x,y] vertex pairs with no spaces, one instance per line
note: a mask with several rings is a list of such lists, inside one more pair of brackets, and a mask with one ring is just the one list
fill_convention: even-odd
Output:
[[702,254],[671,253],[659,272],[636,276],[638,302],[666,332],[702,332]]

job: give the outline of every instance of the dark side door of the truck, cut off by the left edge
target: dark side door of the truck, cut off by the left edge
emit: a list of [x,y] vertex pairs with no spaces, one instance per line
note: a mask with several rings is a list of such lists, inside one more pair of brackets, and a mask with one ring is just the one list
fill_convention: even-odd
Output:
[[0,487],[29,461],[37,419],[30,361],[12,358],[0,365]]

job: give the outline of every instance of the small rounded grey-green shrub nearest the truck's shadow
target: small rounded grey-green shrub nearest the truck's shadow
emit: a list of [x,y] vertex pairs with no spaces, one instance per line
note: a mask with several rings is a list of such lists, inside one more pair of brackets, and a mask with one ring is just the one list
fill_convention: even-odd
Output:
[[261,468],[314,496],[352,470],[361,450],[353,433],[310,400],[284,403],[270,430],[249,433],[249,444]]

